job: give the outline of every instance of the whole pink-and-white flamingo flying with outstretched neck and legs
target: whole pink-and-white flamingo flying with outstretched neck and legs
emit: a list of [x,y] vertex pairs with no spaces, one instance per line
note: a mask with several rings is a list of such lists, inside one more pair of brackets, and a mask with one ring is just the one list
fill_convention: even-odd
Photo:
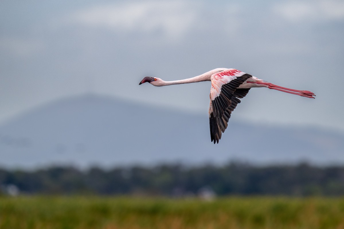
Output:
[[241,102],[240,99],[244,98],[251,88],[264,87],[315,99],[313,92],[280,87],[234,68],[216,68],[202,75],[184,80],[164,81],[157,77],[144,77],[139,85],[149,82],[154,86],[161,87],[201,81],[211,81],[212,83],[209,95],[211,100],[209,124],[210,137],[214,144],[215,142],[218,143],[222,133],[226,130],[230,114],[232,114],[238,103]]

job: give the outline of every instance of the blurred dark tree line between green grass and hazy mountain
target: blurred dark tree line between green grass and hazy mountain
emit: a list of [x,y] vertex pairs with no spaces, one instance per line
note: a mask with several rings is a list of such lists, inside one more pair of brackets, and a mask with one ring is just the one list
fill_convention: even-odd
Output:
[[[162,164],[109,170],[51,167],[35,171],[0,169],[0,186],[24,194],[197,195],[344,195],[344,166],[315,167],[244,163],[224,166]],[[4,188],[2,188],[2,192]],[[1,192],[1,191],[0,191]]]

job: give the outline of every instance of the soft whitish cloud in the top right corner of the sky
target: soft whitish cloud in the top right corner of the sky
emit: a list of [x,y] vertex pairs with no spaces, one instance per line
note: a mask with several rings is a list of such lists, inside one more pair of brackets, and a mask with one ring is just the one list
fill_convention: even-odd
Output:
[[344,1],[319,0],[309,2],[284,2],[274,5],[272,11],[292,22],[343,20]]

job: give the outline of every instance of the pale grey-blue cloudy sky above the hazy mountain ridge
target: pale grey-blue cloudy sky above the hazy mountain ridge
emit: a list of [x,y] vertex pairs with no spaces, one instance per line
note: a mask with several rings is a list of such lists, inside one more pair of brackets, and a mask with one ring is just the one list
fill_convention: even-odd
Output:
[[342,0],[0,2],[0,125],[85,93],[207,115],[209,82],[138,83],[236,68],[316,99],[256,88],[231,119],[344,131],[343,65]]

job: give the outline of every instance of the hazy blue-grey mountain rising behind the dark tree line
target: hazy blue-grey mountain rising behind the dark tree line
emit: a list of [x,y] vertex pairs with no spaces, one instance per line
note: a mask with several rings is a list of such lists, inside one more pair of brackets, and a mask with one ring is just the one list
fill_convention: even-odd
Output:
[[[234,113],[235,114],[235,113]],[[344,162],[344,134],[232,120],[219,144],[208,116],[100,95],[61,99],[0,126],[0,166]]]

